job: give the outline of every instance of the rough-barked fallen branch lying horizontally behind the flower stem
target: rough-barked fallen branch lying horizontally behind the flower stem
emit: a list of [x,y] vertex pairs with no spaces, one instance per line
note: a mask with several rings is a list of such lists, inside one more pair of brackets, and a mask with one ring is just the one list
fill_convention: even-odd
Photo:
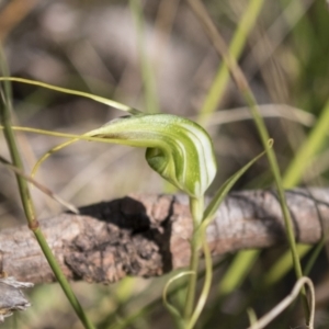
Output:
[[[298,189],[286,197],[297,241],[319,241],[329,225],[329,190]],[[131,195],[39,223],[71,280],[109,283],[125,275],[161,275],[189,263],[192,220],[182,195]],[[229,194],[207,228],[214,256],[285,240],[273,191]],[[0,231],[0,269],[19,281],[54,281],[26,226]]]

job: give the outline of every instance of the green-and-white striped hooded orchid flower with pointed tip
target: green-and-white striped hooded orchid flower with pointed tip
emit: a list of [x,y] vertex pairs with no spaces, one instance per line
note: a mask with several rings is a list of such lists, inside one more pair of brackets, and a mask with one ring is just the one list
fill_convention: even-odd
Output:
[[86,135],[146,147],[148,164],[192,197],[201,197],[216,174],[211,137],[188,118],[171,114],[136,114],[113,120]]

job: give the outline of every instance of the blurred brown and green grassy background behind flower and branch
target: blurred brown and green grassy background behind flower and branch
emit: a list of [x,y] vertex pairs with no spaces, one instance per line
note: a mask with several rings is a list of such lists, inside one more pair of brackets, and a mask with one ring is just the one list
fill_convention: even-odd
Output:
[[[324,115],[329,106],[328,4],[325,0],[204,3],[256,94],[284,173],[318,123],[329,131]],[[0,0],[0,41],[1,60],[11,76],[201,123],[213,137],[218,161],[209,194],[263,149],[239,90],[185,1]],[[38,87],[14,82],[12,90],[13,122],[21,126],[82,134],[124,115],[103,104]],[[26,171],[64,140],[21,133],[18,138]],[[326,136],[316,149],[294,184],[328,185]],[[0,152],[9,158],[2,136]],[[79,141],[53,155],[36,178],[77,206],[132,192],[175,192],[148,168],[143,149],[97,143]],[[272,184],[268,161],[262,158],[234,189]],[[14,177],[5,169],[0,171],[0,186],[1,228],[24,224]],[[39,218],[63,212],[39,192],[33,191],[33,196]],[[286,246],[281,246],[262,251],[239,287],[225,296],[219,282],[234,256],[218,259],[214,288],[198,328],[246,328],[248,307],[258,316],[274,307],[291,291],[293,271],[266,288],[258,283],[285,250]],[[318,295],[316,328],[329,328],[325,251],[310,275]],[[167,281],[168,276],[126,279],[111,286],[75,283],[73,287],[98,328],[171,328],[160,297]],[[36,286],[30,298],[33,307],[0,327],[81,328],[57,284]],[[179,305],[184,303],[182,291],[173,298]],[[131,315],[135,318],[125,327]],[[304,328],[298,303],[268,328],[294,326]]]

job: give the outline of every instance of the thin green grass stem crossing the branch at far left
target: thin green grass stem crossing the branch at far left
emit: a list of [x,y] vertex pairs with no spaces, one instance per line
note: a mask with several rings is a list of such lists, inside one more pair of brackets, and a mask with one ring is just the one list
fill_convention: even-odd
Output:
[[[11,117],[10,117],[10,98],[8,97],[10,94],[10,87],[8,84],[4,86],[5,88],[5,94],[1,93],[2,100],[0,102],[0,116],[3,125],[3,133],[8,143],[8,147],[10,150],[10,155],[12,158],[13,164],[21,169],[23,171],[23,163],[20,157],[20,152],[16,146],[15,137],[11,127]],[[49,246],[47,245],[47,241],[41,231],[38,227],[38,223],[35,218],[35,209],[32,202],[32,197],[30,194],[30,190],[27,186],[27,182],[24,178],[16,174],[16,181],[19,184],[19,191],[24,208],[24,213],[29,223],[30,229],[34,232],[56,279],[58,280],[61,288],[64,290],[66,296],[68,297],[69,302],[71,303],[73,309],[76,310],[77,316],[80,318],[81,322],[83,324],[84,328],[87,329],[93,329],[94,327],[90,322],[90,320],[87,318],[81,305],[79,304],[77,297],[75,296],[71,287],[68,284],[68,281],[66,280],[64,273],[60,270],[60,266],[58,265]]]

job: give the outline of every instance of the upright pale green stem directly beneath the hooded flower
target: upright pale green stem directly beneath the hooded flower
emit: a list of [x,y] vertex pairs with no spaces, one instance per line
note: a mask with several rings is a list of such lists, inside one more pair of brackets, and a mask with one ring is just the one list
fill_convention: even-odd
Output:
[[194,274],[190,275],[186,303],[184,307],[184,319],[188,322],[192,316],[195,300],[195,288],[197,282],[197,269],[198,269],[198,252],[202,248],[204,239],[204,229],[200,229],[203,212],[204,212],[204,197],[190,197],[190,209],[193,218],[193,235],[191,240],[191,260],[190,271]]

